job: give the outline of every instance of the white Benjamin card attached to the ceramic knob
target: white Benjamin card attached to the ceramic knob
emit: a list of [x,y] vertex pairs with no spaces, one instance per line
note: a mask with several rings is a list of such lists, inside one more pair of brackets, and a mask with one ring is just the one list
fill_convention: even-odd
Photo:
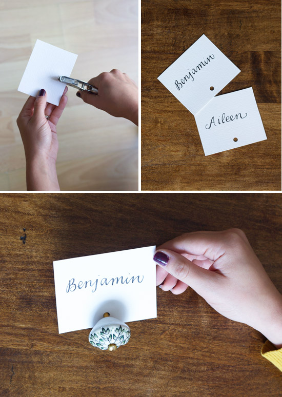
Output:
[[105,312],[123,322],[152,319],[155,246],[55,261],[59,333],[94,327]]

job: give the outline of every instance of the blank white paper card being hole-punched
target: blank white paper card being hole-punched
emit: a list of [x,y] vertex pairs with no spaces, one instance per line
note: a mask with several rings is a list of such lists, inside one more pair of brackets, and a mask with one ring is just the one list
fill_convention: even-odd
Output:
[[70,76],[76,58],[72,52],[37,39],[17,90],[36,97],[44,88],[47,102],[57,106],[66,87],[58,76]]

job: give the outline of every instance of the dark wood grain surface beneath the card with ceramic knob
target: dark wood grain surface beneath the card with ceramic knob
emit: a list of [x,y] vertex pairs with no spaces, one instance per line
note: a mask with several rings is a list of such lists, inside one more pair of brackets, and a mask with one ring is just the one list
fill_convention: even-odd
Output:
[[52,266],[239,227],[282,292],[279,193],[8,193],[0,200],[1,397],[281,394],[281,372],[260,355],[265,337],[192,289],[157,288],[157,318],[129,323],[132,337],[117,351],[93,348],[89,329],[59,335]]

